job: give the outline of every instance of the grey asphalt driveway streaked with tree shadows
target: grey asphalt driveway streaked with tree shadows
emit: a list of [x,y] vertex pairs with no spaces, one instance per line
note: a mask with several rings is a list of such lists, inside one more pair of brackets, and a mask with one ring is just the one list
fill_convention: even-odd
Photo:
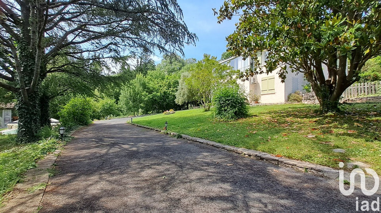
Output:
[[77,131],[40,212],[355,212],[338,182],[126,124]]

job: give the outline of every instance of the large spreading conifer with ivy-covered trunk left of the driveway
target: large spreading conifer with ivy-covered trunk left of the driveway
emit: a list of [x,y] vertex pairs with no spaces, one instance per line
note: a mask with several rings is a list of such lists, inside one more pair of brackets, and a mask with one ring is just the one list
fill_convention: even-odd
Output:
[[17,96],[18,140],[35,139],[49,73],[92,72],[94,62],[138,51],[182,53],[196,40],[176,0],[0,0],[0,87]]

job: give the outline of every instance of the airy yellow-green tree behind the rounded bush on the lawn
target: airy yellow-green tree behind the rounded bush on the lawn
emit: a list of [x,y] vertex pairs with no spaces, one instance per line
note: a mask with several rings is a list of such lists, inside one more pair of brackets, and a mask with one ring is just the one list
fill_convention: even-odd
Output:
[[209,111],[213,91],[219,86],[230,84],[232,80],[231,67],[220,64],[214,56],[204,54],[204,58],[190,68],[190,77],[185,79],[185,85],[195,99]]

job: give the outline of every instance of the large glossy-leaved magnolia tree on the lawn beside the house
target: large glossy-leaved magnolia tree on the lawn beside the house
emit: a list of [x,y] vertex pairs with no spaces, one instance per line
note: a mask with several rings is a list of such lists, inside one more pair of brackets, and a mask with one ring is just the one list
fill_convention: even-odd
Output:
[[[304,74],[323,112],[336,111],[365,62],[381,54],[378,0],[231,0],[214,13],[219,23],[240,16],[227,38],[233,55],[268,51],[262,73],[281,67],[278,74],[284,80],[290,67]],[[259,61],[254,65],[258,68]],[[254,70],[245,77],[256,74]]]

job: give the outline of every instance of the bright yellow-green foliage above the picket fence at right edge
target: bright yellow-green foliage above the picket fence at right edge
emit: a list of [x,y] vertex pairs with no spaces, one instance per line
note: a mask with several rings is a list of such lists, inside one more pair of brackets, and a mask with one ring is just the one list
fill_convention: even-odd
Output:
[[369,59],[360,73],[361,82],[381,81],[381,56]]

